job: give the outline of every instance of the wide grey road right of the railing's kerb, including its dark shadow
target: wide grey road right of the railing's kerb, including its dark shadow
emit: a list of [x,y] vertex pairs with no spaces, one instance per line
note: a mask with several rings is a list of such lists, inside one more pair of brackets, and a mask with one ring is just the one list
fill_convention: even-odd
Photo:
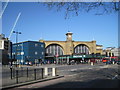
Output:
[[89,64],[58,66],[58,73],[64,75],[64,77],[19,86],[11,89],[119,88],[119,67],[120,66],[117,64],[105,65],[103,63],[99,63],[94,66]]

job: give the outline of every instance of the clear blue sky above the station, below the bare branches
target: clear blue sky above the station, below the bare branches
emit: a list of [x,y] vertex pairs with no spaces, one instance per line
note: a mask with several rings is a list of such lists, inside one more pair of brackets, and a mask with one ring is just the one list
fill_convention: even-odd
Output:
[[[73,32],[74,41],[97,41],[106,47],[118,47],[118,14],[95,15],[94,12],[65,19],[64,10],[48,10],[41,3],[8,3],[2,18],[2,33],[9,36],[18,13],[21,12],[15,30],[22,32],[19,42],[32,40],[66,40],[66,32]],[[15,34],[11,41],[15,42]]]

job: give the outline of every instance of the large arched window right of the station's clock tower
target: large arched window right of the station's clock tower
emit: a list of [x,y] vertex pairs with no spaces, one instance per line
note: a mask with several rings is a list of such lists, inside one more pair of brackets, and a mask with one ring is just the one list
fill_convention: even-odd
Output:
[[74,48],[75,54],[89,54],[89,48],[84,44],[79,44]]

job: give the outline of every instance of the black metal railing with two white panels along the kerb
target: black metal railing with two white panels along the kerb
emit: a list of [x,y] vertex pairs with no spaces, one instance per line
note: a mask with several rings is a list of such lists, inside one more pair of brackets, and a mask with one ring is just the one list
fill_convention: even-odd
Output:
[[2,72],[2,87],[53,76],[56,76],[56,68],[10,68]]

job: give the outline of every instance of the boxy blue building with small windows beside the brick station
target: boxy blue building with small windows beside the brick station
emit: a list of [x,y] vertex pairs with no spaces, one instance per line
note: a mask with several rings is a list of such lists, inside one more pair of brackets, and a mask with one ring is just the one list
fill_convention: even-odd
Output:
[[25,41],[12,45],[12,58],[17,59],[17,64],[32,64],[44,60],[45,45],[37,41]]

